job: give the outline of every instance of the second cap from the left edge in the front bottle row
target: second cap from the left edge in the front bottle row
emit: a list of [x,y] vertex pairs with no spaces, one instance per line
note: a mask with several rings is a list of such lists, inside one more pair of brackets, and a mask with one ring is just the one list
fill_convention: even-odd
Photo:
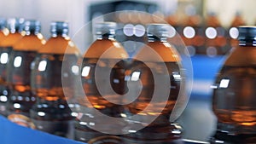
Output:
[[7,28],[9,29],[9,32],[21,32],[24,21],[25,19],[23,18],[9,18],[7,20]]

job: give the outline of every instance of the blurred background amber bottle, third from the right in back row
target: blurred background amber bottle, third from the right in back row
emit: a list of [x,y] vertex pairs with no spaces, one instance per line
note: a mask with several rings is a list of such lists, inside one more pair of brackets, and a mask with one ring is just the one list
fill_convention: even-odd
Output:
[[186,9],[186,15],[187,17],[183,22],[183,31],[180,34],[189,51],[189,55],[205,54],[205,34],[201,16],[196,14],[196,9],[192,5]]

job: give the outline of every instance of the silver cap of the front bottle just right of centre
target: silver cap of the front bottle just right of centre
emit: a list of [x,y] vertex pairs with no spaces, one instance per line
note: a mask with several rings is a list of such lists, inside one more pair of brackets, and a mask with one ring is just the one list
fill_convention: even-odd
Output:
[[149,24],[147,26],[148,37],[168,37],[171,26],[168,24]]

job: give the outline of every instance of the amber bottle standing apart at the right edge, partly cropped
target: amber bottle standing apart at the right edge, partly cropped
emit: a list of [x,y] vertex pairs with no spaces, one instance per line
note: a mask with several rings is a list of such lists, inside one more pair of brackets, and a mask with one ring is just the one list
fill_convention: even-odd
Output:
[[239,45],[216,78],[212,110],[218,126],[212,143],[251,144],[256,141],[256,27],[239,26]]

